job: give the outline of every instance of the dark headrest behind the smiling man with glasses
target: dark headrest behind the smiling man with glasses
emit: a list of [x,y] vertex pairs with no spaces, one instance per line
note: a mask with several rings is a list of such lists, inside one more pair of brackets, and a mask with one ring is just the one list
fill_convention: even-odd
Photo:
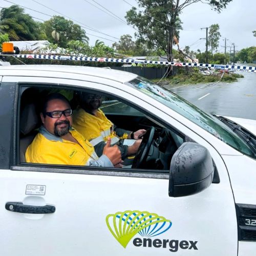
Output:
[[36,106],[34,103],[29,103],[25,106],[20,114],[20,132],[23,135],[29,134],[39,124],[39,118],[36,114]]

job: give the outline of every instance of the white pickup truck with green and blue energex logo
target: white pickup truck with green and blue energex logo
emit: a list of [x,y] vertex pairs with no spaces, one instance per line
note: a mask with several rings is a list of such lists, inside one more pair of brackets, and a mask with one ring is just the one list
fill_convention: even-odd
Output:
[[[0,79],[0,255],[256,254],[256,121],[110,69],[9,66]],[[104,95],[112,122],[147,129],[132,168],[26,163],[52,91],[73,108],[77,92]]]

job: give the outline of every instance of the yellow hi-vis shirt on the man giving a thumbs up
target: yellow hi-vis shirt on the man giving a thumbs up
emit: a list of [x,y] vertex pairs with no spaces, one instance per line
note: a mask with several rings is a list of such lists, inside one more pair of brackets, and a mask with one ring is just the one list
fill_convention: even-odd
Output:
[[39,133],[27,148],[26,162],[91,165],[90,161],[97,161],[98,156],[93,145],[84,140],[75,129],[70,129],[70,133],[79,144],[54,136],[41,126]]

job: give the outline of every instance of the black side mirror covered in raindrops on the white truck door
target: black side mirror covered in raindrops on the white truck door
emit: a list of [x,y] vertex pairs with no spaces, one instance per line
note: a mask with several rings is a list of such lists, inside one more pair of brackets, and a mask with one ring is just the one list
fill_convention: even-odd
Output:
[[170,162],[169,197],[189,196],[207,188],[214,178],[214,165],[207,148],[185,142]]

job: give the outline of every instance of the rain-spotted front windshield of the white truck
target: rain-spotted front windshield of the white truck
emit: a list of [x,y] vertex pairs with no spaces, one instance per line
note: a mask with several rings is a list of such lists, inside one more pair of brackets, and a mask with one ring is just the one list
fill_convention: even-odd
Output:
[[195,105],[189,103],[185,99],[142,77],[138,77],[126,84],[160,101],[170,109],[196,123],[221,141],[236,148],[236,150],[241,153],[255,158],[255,155],[246,142],[229,129],[228,126],[216,117],[198,109]]

